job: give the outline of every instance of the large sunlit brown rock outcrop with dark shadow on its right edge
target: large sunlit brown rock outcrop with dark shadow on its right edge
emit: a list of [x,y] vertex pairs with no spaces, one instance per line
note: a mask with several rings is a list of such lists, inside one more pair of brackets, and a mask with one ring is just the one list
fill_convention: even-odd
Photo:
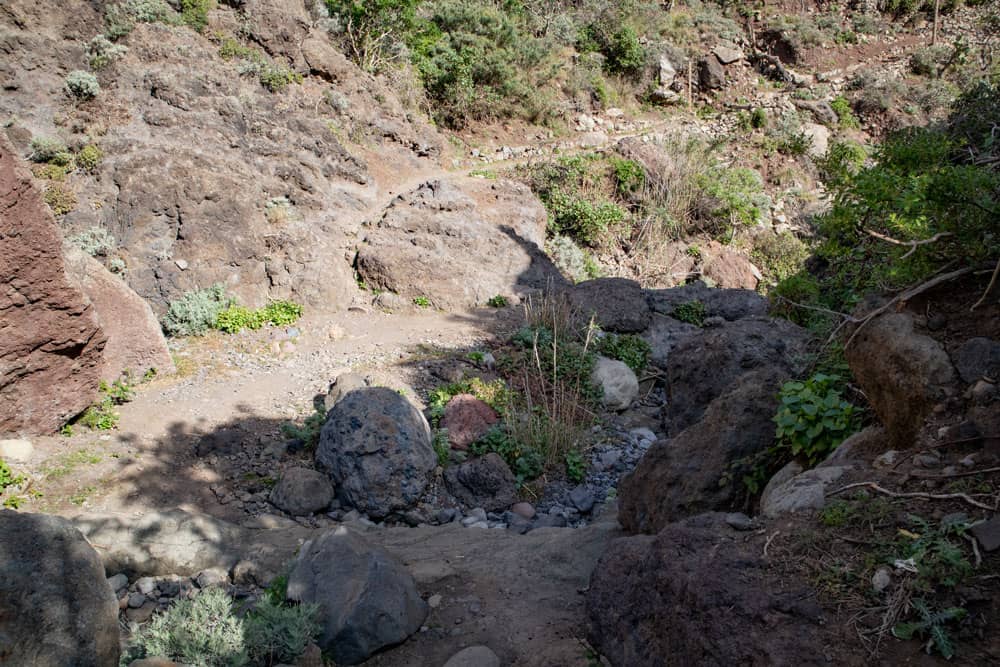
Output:
[[476,306],[558,276],[544,256],[545,208],[507,180],[431,181],[400,195],[367,229],[358,275],[408,301]]

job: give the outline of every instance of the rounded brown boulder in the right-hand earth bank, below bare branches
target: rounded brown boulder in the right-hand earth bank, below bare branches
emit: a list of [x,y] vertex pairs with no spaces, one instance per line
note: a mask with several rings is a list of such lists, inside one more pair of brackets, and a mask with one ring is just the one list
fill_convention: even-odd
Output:
[[869,321],[844,356],[895,449],[913,445],[924,417],[955,379],[947,353],[933,338],[914,331],[906,313]]

